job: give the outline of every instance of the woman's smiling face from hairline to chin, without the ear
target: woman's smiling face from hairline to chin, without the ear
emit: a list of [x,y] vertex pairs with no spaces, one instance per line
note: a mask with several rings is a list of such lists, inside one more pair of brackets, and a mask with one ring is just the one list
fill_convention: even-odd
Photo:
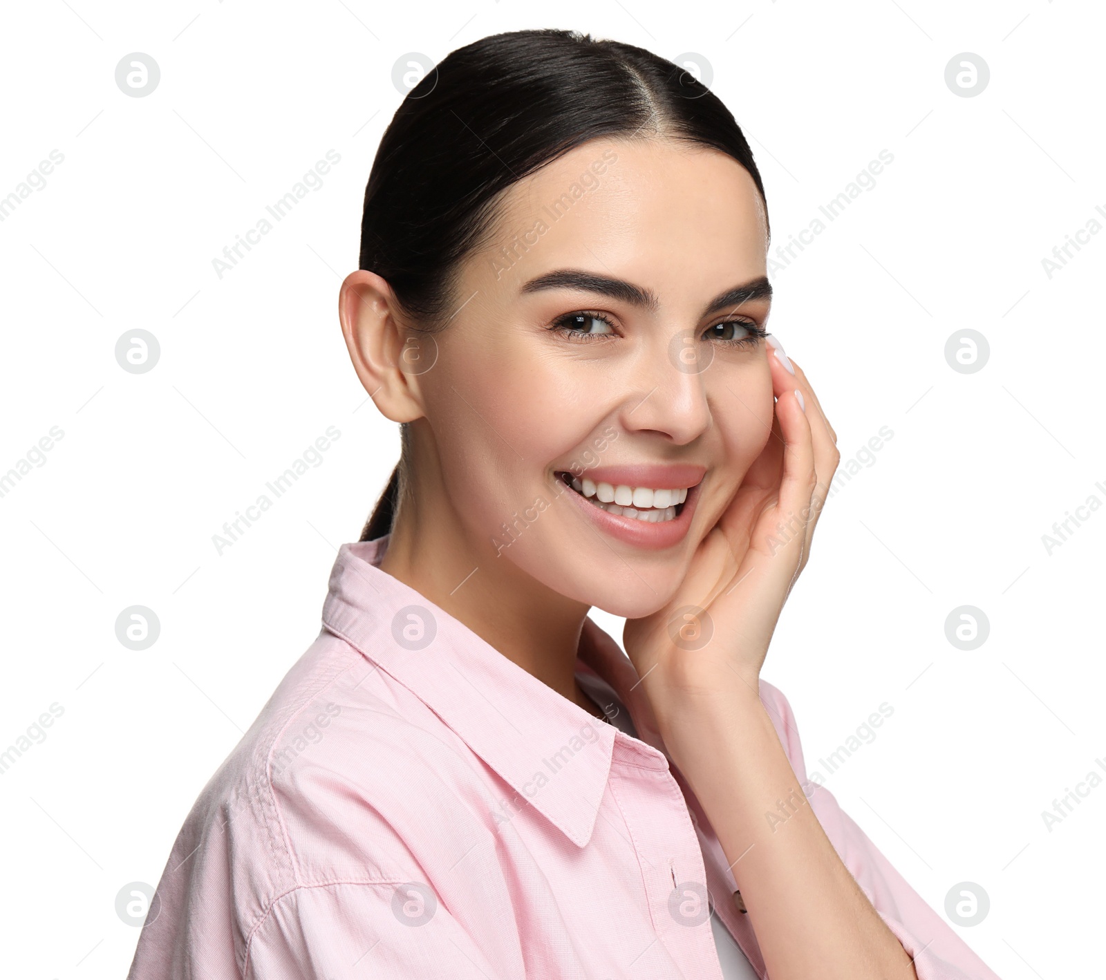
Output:
[[596,139],[499,215],[449,325],[411,342],[437,345],[416,438],[479,566],[647,615],[770,437],[760,197],[719,152]]

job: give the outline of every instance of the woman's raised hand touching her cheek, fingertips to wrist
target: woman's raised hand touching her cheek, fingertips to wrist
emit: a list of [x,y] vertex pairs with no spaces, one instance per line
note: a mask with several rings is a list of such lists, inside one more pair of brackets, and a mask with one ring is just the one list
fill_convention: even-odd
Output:
[[672,600],[627,621],[623,633],[661,730],[689,705],[732,701],[735,690],[759,697],[769,642],[806,564],[841,458],[806,375],[797,366],[791,374],[772,347],[768,361],[776,404],[764,450],[699,545]]

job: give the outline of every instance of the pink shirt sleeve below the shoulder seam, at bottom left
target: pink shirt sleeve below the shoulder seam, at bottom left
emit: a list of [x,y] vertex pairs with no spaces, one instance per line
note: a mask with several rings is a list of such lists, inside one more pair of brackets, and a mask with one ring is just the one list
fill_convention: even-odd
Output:
[[337,882],[299,887],[250,937],[244,980],[505,980],[429,886]]

